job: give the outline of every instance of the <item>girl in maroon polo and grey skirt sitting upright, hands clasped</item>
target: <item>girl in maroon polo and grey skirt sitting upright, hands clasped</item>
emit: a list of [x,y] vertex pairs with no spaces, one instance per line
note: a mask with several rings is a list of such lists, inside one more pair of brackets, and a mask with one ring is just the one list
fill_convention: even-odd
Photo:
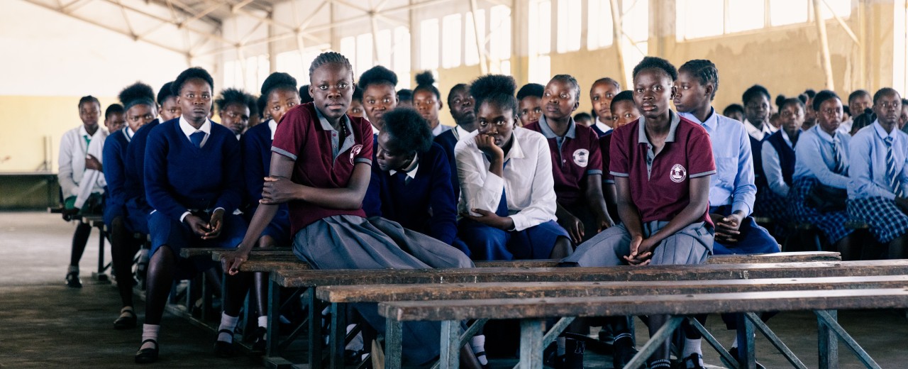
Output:
[[[677,70],[646,57],[634,67],[634,102],[641,117],[615,130],[609,170],[615,175],[621,224],[580,244],[565,264],[701,264],[713,247],[709,178],[716,173],[706,130],[671,111]],[[667,315],[650,315],[649,332]],[[616,356],[627,356],[630,337],[616,333]],[[697,341],[698,343],[698,341]],[[686,357],[700,367],[699,354]],[[686,363],[687,364],[687,363]],[[670,368],[668,342],[650,357],[650,368]]]

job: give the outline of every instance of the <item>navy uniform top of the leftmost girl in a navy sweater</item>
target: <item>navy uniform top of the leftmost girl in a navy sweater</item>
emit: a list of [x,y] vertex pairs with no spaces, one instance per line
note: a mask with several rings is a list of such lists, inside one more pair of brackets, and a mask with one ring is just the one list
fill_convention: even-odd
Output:
[[104,224],[111,226],[115,218],[123,221],[129,232],[137,232],[126,216],[126,148],[133,139],[129,125],[107,136],[104,140],[104,179],[107,181],[107,199],[104,201]]

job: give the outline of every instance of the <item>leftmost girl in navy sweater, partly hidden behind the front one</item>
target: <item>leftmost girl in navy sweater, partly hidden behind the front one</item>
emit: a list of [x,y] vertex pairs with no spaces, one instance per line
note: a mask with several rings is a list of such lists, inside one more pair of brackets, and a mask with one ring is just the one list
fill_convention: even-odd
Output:
[[[154,90],[143,83],[135,83],[120,92],[120,102],[126,115],[126,125],[111,133],[104,141],[104,179],[107,181],[107,201],[104,203],[104,224],[110,229],[111,254],[114,259],[114,274],[120,275],[117,290],[123,308],[120,317],[114,321],[114,328],[133,328],[136,323],[133,312],[133,256],[142,245],[133,234],[139,232],[126,216],[126,148],[135,132],[154,120],[158,105],[154,103]],[[129,276],[129,277],[127,277]]]

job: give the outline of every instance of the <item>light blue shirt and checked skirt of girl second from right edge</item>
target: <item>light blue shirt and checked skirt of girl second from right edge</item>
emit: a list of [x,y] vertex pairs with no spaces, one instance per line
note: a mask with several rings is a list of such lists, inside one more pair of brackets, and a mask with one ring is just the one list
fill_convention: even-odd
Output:
[[851,138],[851,135],[841,131],[836,131],[834,136],[829,135],[820,125],[814,125],[801,134],[795,146],[793,184],[787,203],[796,221],[814,224],[831,244],[854,232],[844,225],[848,221],[848,213],[844,210],[820,213],[804,204],[804,200],[816,184],[843,189],[848,187],[851,182],[848,177]]

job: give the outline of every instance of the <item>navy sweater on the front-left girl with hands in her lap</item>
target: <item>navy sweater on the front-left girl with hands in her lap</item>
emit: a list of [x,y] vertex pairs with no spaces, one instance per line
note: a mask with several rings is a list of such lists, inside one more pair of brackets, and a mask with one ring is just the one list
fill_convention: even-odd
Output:
[[159,125],[145,147],[148,204],[177,221],[190,209],[222,207],[232,214],[242,200],[239,145],[230,129],[215,123],[202,148],[183,135],[179,118]]

